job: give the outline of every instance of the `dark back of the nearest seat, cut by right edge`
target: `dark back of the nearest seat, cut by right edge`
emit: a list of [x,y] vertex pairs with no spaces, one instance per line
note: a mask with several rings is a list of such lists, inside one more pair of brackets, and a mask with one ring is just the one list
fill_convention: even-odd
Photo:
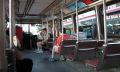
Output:
[[104,52],[104,66],[120,67],[120,43],[108,43]]

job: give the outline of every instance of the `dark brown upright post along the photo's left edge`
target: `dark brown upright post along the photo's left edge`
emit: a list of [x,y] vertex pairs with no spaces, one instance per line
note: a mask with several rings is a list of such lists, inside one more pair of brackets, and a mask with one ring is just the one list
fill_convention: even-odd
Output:
[[7,72],[5,38],[5,0],[0,0],[0,72]]

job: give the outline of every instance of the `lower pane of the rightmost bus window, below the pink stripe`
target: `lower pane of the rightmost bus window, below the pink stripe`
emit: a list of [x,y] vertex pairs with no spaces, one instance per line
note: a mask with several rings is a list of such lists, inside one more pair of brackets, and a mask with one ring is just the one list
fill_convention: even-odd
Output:
[[108,15],[107,18],[107,33],[108,37],[118,37],[120,36],[120,13]]

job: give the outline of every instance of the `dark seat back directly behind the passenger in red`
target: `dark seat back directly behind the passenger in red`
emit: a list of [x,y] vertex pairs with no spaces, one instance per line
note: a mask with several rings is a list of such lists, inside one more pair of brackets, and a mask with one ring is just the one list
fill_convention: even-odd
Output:
[[61,45],[61,54],[68,56],[75,53],[76,40],[64,40]]

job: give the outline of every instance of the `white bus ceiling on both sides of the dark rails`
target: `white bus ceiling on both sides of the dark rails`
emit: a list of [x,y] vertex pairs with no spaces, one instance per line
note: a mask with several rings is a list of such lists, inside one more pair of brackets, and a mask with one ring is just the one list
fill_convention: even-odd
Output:
[[[20,7],[19,13],[23,14],[27,0],[19,0]],[[35,0],[28,14],[40,14],[47,6],[49,6],[54,0]]]

